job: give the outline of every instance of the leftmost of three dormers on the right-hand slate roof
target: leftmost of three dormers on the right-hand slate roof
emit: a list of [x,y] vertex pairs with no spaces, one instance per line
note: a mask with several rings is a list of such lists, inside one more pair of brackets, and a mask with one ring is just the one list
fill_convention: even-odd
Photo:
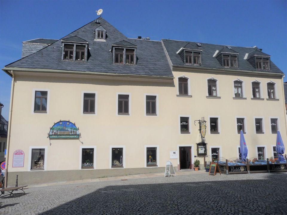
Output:
[[184,47],[181,47],[177,52],[181,60],[186,65],[201,65],[202,63],[202,49],[198,48],[191,43],[187,43]]

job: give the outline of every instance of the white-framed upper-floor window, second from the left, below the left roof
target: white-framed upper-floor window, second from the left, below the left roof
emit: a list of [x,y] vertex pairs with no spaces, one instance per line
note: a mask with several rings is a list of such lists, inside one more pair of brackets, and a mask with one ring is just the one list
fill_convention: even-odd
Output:
[[82,91],[81,115],[97,115],[97,91]]

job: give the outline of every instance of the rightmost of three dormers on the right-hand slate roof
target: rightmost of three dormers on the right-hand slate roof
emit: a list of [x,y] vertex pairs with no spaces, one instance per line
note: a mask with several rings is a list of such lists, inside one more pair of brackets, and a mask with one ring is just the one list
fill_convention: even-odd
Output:
[[271,70],[270,67],[270,55],[263,53],[262,51],[255,49],[252,52],[246,54],[245,59],[256,70]]

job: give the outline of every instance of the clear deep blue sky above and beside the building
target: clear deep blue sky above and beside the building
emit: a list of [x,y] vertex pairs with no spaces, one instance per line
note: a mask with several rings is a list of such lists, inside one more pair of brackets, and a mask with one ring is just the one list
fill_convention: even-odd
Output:
[[[13,1],[0,0],[0,67],[21,58],[22,42],[60,39],[97,18],[130,38],[257,46],[287,73],[287,1]],[[11,78],[0,71],[8,120]],[[287,77],[284,78],[287,81]]]

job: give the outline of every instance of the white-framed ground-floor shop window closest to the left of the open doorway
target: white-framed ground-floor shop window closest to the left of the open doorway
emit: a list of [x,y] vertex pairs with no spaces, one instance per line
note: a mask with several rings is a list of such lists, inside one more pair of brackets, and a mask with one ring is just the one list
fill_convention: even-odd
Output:
[[159,145],[144,146],[144,167],[159,167]]

